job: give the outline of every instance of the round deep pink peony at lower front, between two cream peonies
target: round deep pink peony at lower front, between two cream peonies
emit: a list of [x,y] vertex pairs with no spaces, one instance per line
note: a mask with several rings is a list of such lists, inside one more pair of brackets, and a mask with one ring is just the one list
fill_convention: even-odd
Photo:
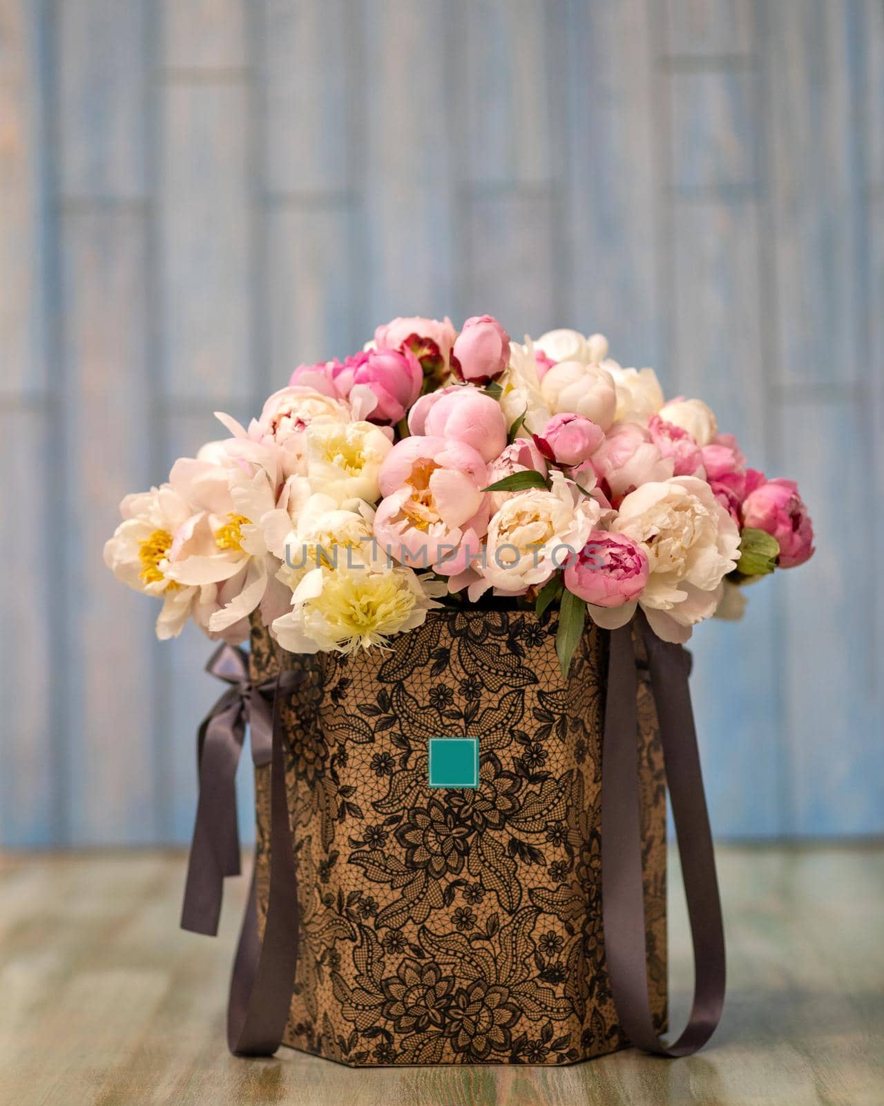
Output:
[[593,530],[568,560],[565,586],[597,607],[620,607],[638,599],[648,582],[644,550],[625,534]]

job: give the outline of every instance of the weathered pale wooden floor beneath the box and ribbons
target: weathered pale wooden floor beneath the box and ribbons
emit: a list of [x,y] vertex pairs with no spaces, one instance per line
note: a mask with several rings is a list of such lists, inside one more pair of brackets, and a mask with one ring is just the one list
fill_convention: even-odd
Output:
[[[0,860],[3,1106],[884,1103],[884,847],[718,851],[729,990],[712,1045],[568,1068],[350,1071],[233,1060],[223,1009],[244,880],[215,940],[177,928],[180,854]],[[671,896],[672,898],[672,896]],[[690,961],[672,902],[673,1013]]]

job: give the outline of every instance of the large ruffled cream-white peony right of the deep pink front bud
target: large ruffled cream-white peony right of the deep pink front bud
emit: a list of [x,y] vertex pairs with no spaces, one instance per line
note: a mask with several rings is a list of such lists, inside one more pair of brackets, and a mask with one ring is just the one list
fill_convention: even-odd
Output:
[[736,523],[705,480],[673,477],[630,492],[611,529],[648,552],[639,602],[651,628],[664,641],[686,641],[691,627],[715,612],[724,576],[736,566]]

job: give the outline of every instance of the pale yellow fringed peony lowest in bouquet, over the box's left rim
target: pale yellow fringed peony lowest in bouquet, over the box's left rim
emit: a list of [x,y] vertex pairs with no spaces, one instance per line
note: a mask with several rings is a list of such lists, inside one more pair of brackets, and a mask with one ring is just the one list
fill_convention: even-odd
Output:
[[414,629],[444,584],[424,583],[411,568],[313,568],[292,596],[292,611],[276,618],[273,633],[291,653],[337,649],[351,653],[383,646],[391,634]]

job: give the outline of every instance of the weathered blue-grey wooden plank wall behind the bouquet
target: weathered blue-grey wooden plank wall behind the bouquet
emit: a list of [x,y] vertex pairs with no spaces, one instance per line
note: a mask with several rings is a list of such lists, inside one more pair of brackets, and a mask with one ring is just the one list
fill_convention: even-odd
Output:
[[218,689],[104,568],[124,492],[482,311],[800,480],[815,559],[695,634],[713,821],[884,832],[880,0],[0,0],[0,841],[189,832]]

